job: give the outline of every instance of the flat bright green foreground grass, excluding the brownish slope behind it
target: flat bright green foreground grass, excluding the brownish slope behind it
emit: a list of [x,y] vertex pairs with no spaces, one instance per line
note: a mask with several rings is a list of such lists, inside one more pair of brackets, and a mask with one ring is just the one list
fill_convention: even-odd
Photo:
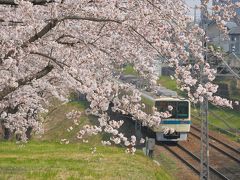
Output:
[[0,179],[171,179],[142,152],[89,144],[0,142]]

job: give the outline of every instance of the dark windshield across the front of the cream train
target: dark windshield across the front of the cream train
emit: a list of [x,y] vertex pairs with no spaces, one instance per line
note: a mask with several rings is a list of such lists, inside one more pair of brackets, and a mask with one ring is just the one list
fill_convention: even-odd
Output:
[[185,119],[189,117],[188,101],[156,101],[155,106],[160,112],[168,111],[168,106],[172,106],[170,118]]

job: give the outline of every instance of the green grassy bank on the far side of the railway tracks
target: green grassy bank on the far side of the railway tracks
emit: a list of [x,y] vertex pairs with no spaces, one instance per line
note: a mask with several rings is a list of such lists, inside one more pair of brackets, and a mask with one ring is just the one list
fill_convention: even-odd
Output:
[[[161,76],[158,81],[161,85],[166,88],[172,89],[181,93],[179,89],[177,89],[177,85],[175,80],[171,80],[170,77]],[[199,108],[192,107],[192,114],[195,116],[199,116]],[[240,112],[235,110],[227,109],[227,108],[217,108],[213,105],[209,105],[209,122],[214,124],[215,126],[228,130],[234,131],[236,129],[240,129]],[[195,123],[199,123],[196,119],[193,118]],[[210,127],[214,129],[213,127]]]

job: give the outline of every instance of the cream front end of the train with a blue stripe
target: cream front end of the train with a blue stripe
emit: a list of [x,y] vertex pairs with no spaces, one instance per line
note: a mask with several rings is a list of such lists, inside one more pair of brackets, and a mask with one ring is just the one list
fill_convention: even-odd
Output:
[[[188,100],[181,100],[179,98],[160,98],[155,99],[155,107],[159,112],[168,110],[168,107],[172,106],[170,111],[171,116],[166,119],[162,119],[159,126],[154,127],[153,131],[156,132],[157,141],[184,141],[187,140],[187,134],[190,131],[190,102]],[[166,129],[172,129],[174,132],[166,132]],[[165,133],[164,133],[165,131]]]

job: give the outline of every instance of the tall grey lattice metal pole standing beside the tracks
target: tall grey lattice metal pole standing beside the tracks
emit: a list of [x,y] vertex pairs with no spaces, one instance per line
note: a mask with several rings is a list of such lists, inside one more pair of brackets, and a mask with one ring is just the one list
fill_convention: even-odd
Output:
[[[201,0],[201,27],[205,31],[205,35],[202,39],[204,47],[204,61],[207,61],[207,5],[204,4],[204,0]],[[203,85],[206,81],[206,77],[203,75],[204,63],[201,65],[200,81]],[[201,171],[200,179],[209,179],[209,137],[208,137],[208,97],[204,95],[203,102],[200,103],[201,112]]]

